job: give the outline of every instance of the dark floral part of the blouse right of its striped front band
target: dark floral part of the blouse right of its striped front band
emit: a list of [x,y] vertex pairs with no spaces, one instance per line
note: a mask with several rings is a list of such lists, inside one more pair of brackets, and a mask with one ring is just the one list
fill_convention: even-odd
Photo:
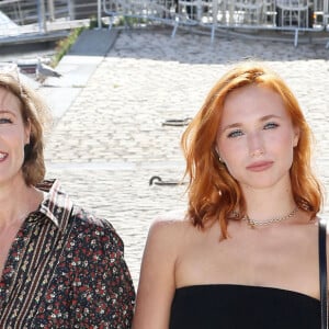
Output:
[[32,327],[131,328],[135,291],[122,239],[109,222],[83,211],[69,222],[70,232]]

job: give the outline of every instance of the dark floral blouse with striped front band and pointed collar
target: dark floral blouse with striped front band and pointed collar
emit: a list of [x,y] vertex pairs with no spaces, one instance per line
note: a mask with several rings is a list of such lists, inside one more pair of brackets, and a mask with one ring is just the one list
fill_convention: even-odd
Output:
[[0,328],[131,328],[135,291],[112,225],[77,207],[58,181],[30,214],[0,281]]

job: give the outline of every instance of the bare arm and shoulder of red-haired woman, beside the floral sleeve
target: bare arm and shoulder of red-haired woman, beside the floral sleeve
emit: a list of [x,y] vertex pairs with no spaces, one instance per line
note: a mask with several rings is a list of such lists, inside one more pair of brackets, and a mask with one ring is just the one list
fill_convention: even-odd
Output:
[[189,226],[184,216],[175,213],[161,215],[151,224],[141,260],[133,328],[169,327],[175,262]]

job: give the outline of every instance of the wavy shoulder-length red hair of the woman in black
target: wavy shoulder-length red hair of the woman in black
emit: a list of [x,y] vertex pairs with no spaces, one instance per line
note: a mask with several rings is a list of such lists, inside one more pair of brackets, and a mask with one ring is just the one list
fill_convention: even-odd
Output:
[[282,78],[262,64],[240,64],[213,87],[181,140],[186,159],[185,175],[190,179],[188,216],[194,226],[201,228],[205,223],[219,220],[224,238],[227,238],[227,220],[232,212],[238,208],[240,218],[246,215],[246,201],[239,183],[218,161],[216,136],[228,93],[249,84],[279,93],[293,125],[299,128],[291,168],[292,191],[297,206],[314,218],[322,204],[321,188],[310,166],[313,136],[296,98]]

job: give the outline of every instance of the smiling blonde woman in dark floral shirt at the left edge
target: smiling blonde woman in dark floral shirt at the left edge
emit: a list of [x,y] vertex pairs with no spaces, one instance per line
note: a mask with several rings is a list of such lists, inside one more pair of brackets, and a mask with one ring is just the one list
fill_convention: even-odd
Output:
[[44,180],[47,122],[16,67],[0,68],[0,327],[131,328],[123,242]]

